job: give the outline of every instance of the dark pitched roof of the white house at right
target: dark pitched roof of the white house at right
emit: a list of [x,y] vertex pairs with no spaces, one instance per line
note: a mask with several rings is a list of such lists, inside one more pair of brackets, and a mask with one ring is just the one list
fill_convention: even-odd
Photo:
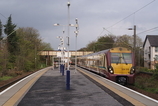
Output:
[[147,35],[143,44],[143,47],[145,46],[146,40],[149,40],[149,43],[151,46],[157,46],[158,47],[158,35]]

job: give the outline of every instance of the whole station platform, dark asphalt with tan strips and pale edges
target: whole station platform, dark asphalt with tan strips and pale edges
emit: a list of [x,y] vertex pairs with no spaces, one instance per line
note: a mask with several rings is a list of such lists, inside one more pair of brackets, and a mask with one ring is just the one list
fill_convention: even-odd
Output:
[[[70,67],[67,90],[66,75],[59,69],[42,69],[0,92],[0,106],[157,106],[157,101],[86,73]],[[113,84],[117,87],[113,88]]]

